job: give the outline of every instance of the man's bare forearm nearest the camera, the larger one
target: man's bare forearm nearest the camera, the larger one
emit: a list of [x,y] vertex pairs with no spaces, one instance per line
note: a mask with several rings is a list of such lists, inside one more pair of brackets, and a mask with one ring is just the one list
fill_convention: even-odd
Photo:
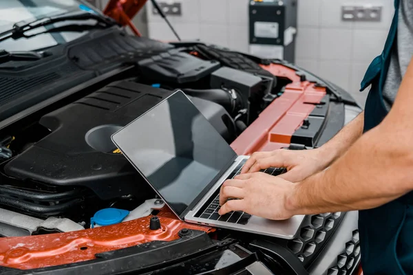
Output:
[[297,184],[287,207],[297,214],[363,210],[405,195],[413,189],[408,143],[391,127],[369,131],[328,170]]

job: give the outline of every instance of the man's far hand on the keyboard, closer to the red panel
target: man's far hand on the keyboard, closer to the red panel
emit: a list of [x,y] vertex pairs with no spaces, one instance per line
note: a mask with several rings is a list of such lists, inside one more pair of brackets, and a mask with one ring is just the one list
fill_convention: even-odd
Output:
[[269,167],[282,167],[288,170],[280,175],[283,179],[298,182],[324,170],[330,164],[330,157],[319,149],[290,151],[275,150],[272,152],[253,153],[246,161],[241,173],[255,173]]

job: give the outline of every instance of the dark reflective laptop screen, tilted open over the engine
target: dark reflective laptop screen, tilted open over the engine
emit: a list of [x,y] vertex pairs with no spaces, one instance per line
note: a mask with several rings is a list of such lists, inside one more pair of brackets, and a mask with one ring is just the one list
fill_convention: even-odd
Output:
[[182,91],[131,122],[113,140],[178,216],[236,157]]

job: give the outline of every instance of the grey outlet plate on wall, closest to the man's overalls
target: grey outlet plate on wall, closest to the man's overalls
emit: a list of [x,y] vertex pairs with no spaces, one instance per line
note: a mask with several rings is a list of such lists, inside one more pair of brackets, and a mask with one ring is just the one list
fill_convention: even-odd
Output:
[[383,7],[379,5],[343,5],[341,19],[343,21],[380,22]]

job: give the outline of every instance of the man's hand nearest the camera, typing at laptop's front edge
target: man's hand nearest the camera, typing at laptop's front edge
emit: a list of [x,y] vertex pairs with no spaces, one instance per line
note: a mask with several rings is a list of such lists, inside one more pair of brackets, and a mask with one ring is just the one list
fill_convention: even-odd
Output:
[[244,211],[266,219],[289,219],[294,214],[286,208],[286,201],[294,186],[285,179],[265,173],[238,175],[222,184],[219,214]]

